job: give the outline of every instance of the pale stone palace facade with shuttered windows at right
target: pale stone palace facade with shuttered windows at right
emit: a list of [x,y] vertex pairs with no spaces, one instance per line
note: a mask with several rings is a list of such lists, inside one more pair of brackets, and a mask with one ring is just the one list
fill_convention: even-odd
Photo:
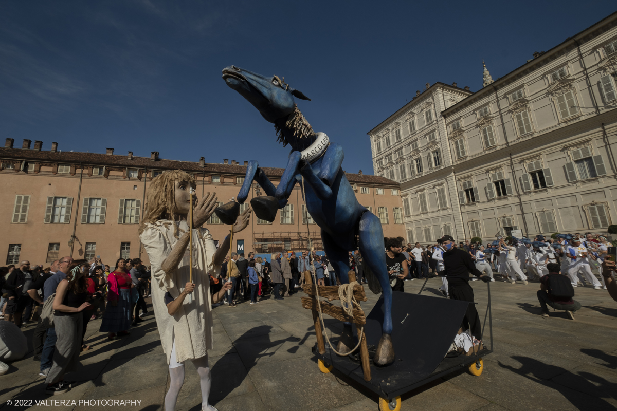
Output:
[[[442,83],[368,132],[409,242],[617,222],[617,14],[473,94]],[[468,89],[468,87],[466,87]]]

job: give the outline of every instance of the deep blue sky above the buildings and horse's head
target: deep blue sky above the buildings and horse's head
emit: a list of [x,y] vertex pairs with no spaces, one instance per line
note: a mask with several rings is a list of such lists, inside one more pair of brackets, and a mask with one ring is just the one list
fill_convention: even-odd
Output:
[[312,101],[343,168],[373,174],[366,132],[424,84],[477,91],[615,12],[615,1],[3,1],[0,135],[61,150],[284,167],[272,124],[225,85],[236,65]]

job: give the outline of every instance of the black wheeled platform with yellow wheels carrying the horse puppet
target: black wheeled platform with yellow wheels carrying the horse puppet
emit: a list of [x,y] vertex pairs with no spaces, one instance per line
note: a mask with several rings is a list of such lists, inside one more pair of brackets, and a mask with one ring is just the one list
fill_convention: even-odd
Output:
[[[488,283],[487,283],[488,285]],[[490,286],[489,286],[490,287]],[[490,290],[490,289],[489,289]],[[349,356],[338,356],[331,352],[325,341],[324,354],[319,354],[317,343],[313,348],[315,355],[338,372],[349,376],[370,389],[379,397],[392,401],[437,378],[469,367],[481,357],[492,352],[491,299],[487,304],[484,324],[489,318],[491,348],[484,348],[470,356],[445,357],[450,344],[460,328],[466,301],[439,298],[434,296],[392,293],[392,343],[396,352],[393,364],[376,367],[371,360],[371,381],[365,381],[362,364]],[[365,333],[368,345],[377,345],[381,338],[383,320],[383,297],[379,298],[366,317]],[[486,344],[489,340],[482,339]]]

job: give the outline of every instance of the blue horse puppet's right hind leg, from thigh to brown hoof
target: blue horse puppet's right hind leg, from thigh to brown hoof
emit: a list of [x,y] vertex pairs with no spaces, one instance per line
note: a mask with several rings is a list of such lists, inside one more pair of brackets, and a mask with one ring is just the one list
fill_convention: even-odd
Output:
[[[384,236],[381,222],[370,211],[365,211],[360,218],[358,245],[362,253],[365,276],[377,277],[384,298],[384,320],[381,324],[381,339],[377,344],[373,363],[380,367],[394,362],[394,346],[392,345],[392,288],[386,270],[386,253],[384,252]],[[368,270],[366,270],[368,266]],[[374,279],[367,278],[368,281]],[[372,290],[375,292],[375,290]]]

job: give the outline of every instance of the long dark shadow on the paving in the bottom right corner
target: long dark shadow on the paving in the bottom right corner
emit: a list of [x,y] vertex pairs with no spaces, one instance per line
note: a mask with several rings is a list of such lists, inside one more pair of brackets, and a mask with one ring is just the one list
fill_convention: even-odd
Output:
[[[615,409],[615,407],[605,399],[614,398],[614,394],[617,393],[616,383],[611,383],[611,381],[605,380],[601,376],[587,372],[580,372],[579,374],[572,373],[565,368],[544,364],[544,362],[529,357],[512,356],[511,358],[523,365],[521,365],[520,368],[514,368],[500,361],[497,361],[497,363],[502,368],[525,376],[529,378],[529,380],[547,386],[548,388],[557,390],[565,399],[574,405],[576,409]],[[561,385],[552,380],[543,380],[537,376],[537,374],[555,375],[552,380],[558,378],[560,381],[565,381],[569,386]]]

